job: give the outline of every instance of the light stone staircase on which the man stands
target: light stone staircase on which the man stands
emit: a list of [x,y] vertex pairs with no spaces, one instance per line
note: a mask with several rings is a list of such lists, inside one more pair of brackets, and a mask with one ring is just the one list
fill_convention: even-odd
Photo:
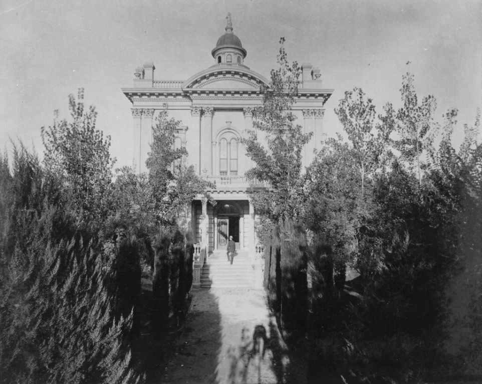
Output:
[[226,251],[211,253],[201,269],[201,287],[253,288],[255,270],[247,250],[236,250],[232,264]]

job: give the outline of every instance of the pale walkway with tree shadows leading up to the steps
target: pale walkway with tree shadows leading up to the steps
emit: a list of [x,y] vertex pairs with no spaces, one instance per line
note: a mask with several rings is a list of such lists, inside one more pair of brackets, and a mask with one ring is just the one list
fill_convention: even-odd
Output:
[[[185,325],[172,345],[172,357],[162,382],[286,382],[289,358],[275,324],[267,308],[264,290],[194,290]],[[256,341],[262,339],[261,343]],[[265,345],[264,355],[259,344]]]

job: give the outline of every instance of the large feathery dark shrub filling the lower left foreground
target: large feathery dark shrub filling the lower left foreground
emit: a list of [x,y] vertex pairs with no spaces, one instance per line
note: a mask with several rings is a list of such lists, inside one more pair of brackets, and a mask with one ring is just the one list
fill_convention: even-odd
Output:
[[[22,145],[0,238],[3,382],[139,382],[124,344],[132,314],[114,319],[112,273],[93,234]],[[51,201],[57,202],[53,204]]]

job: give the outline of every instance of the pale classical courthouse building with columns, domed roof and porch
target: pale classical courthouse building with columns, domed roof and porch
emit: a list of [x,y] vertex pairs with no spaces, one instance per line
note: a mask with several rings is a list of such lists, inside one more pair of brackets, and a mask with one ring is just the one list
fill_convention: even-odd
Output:
[[[256,212],[247,190],[257,186],[245,178],[253,164],[240,139],[252,129],[254,109],[263,101],[260,86],[269,81],[246,65],[248,51],[233,33],[230,15],[226,20],[225,33],[211,50],[211,66],[188,79],[171,80],[157,79],[154,63],[147,62],[135,69],[132,88],[122,91],[132,103],[136,171],[146,171],[155,116],[167,110],[168,117],[181,120],[176,145],[186,147],[187,163],[215,185],[209,190],[214,206],[201,197],[192,201],[190,225],[197,241],[214,251],[225,249],[232,235],[236,248],[250,251],[257,243]],[[302,65],[300,80],[293,112],[296,123],[313,132],[304,150],[308,165],[322,139],[323,105],[333,89],[323,88],[320,70],[311,64]]]

